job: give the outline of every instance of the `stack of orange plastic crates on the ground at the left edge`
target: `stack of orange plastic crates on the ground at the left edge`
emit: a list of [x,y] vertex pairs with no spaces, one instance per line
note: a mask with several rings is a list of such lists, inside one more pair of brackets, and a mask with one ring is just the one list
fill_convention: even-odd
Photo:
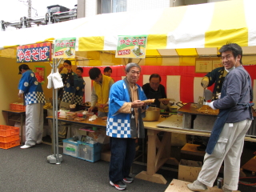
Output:
[[20,145],[19,128],[0,125],[0,148],[9,149]]

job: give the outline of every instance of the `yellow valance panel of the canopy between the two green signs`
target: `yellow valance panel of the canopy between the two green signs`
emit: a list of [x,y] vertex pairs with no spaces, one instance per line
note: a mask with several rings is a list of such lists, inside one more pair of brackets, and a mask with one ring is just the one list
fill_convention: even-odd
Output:
[[86,37],[79,38],[78,40],[78,50],[88,51],[88,50],[103,50],[104,49],[104,37]]

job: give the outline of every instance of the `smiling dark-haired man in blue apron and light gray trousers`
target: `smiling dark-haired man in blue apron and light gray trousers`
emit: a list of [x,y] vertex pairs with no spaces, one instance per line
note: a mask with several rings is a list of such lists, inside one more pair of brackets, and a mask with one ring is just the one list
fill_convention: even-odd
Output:
[[207,186],[213,186],[223,161],[222,190],[238,190],[244,137],[253,120],[251,78],[242,66],[242,48],[236,43],[228,43],[219,52],[222,64],[229,73],[223,82],[220,98],[209,105],[214,110],[219,109],[219,114],[206,147],[198,179],[187,185],[192,191],[204,191]]

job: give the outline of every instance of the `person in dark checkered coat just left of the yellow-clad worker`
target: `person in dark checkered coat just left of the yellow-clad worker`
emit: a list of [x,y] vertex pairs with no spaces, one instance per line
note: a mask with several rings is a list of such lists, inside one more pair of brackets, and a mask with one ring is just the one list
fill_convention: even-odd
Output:
[[82,110],[82,102],[83,97],[85,95],[85,86],[86,82],[82,78],[83,69],[82,67],[78,67],[76,69],[76,74],[78,75],[78,86],[75,87],[75,93],[74,93],[74,104],[76,105],[76,110]]

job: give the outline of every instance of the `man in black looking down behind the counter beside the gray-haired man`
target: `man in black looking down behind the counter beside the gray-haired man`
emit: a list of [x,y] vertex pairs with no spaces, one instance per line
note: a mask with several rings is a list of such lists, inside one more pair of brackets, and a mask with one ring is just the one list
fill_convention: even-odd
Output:
[[146,83],[142,86],[144,93],[146,94],[146,98],[154,98],[154,102],[151,106],[156,106],[158,108],[164,109],[169,101],[160,102],[159,98],[166,98],[166,89],[161,82],[161,76],[159,74],[151,74],[150,82]]

